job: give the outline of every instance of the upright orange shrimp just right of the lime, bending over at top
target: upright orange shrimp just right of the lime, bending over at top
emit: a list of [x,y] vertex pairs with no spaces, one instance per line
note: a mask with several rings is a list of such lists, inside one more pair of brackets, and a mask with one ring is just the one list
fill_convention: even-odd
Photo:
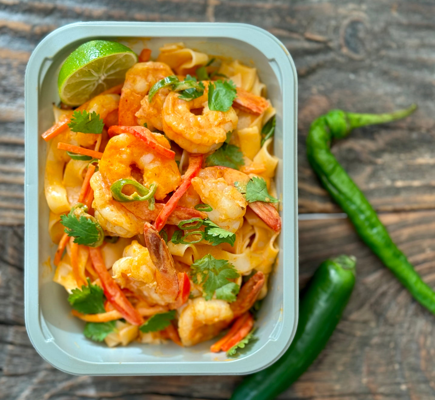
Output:
[[119,124],[133,127],[138,125],[136,113],[141,108],[141,100],[159,80],[174,75],[165,63],[148,61],[137,63],[126,75],[119,103]]

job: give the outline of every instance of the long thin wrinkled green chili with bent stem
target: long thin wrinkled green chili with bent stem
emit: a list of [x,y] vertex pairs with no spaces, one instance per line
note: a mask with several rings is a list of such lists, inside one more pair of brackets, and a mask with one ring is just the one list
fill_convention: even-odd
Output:
[[422,306],[435,313],[435,292],[388,235],[375,210],[330,151],[332,139],[346,137],[352,129],[407,117],[416,105],[390,114],[355,114],[332,110],[310,127],[307,155],[326,190],[348,214],[362,240],[381,259]]

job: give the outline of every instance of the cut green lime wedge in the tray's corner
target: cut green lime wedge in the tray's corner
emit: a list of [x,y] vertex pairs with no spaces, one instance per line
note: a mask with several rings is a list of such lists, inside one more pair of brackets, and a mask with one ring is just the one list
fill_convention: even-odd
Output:
[[80,106],[102,91],[122,83],[137,55],[121,43],[92,40],[74,50],[60,68],[60,100]]

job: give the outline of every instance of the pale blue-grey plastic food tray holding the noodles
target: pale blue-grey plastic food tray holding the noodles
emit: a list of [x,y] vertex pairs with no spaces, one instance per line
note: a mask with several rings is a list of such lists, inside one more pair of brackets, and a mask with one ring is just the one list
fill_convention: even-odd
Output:
[[[72,317],[63,287],[52,282],[56,246],[47,232],[49,209],[44,197],[46,143],[40,134],[53,123],[52,104],[59,101],[57,75],[66,57],[81,43],[117,40],[153,56],[164,43],[184,42],[208,54],[255,66],[277,110],[274,153],[282,200],[280,253],[269,280],[256,326],[258,341],[247,353],[228,358],[211,353],[211,342],[181,348],[174,343],[108,348],[83,335],[84,322]],[[298,315],[298,220],[296,114],[297,76],[284,45],[258,27],[238,23],[91,22],[61,27],[33,51],[25,79],[25,274],[27,333],[50,364],[74,374],[89,375],[210,375],[246,374],[267,367],[288,348]]]

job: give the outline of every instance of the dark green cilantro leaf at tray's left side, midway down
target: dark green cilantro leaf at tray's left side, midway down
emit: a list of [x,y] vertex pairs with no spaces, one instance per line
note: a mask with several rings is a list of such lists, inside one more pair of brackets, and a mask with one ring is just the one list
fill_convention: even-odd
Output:
[[100,224],[94,218],[87,218],[84,214],[76,216],[71,210],[69,214],[60,217],[60,223],[65,227],[64,231],[68,236],[75,237],[74,243],[95,247],[104,239]]

